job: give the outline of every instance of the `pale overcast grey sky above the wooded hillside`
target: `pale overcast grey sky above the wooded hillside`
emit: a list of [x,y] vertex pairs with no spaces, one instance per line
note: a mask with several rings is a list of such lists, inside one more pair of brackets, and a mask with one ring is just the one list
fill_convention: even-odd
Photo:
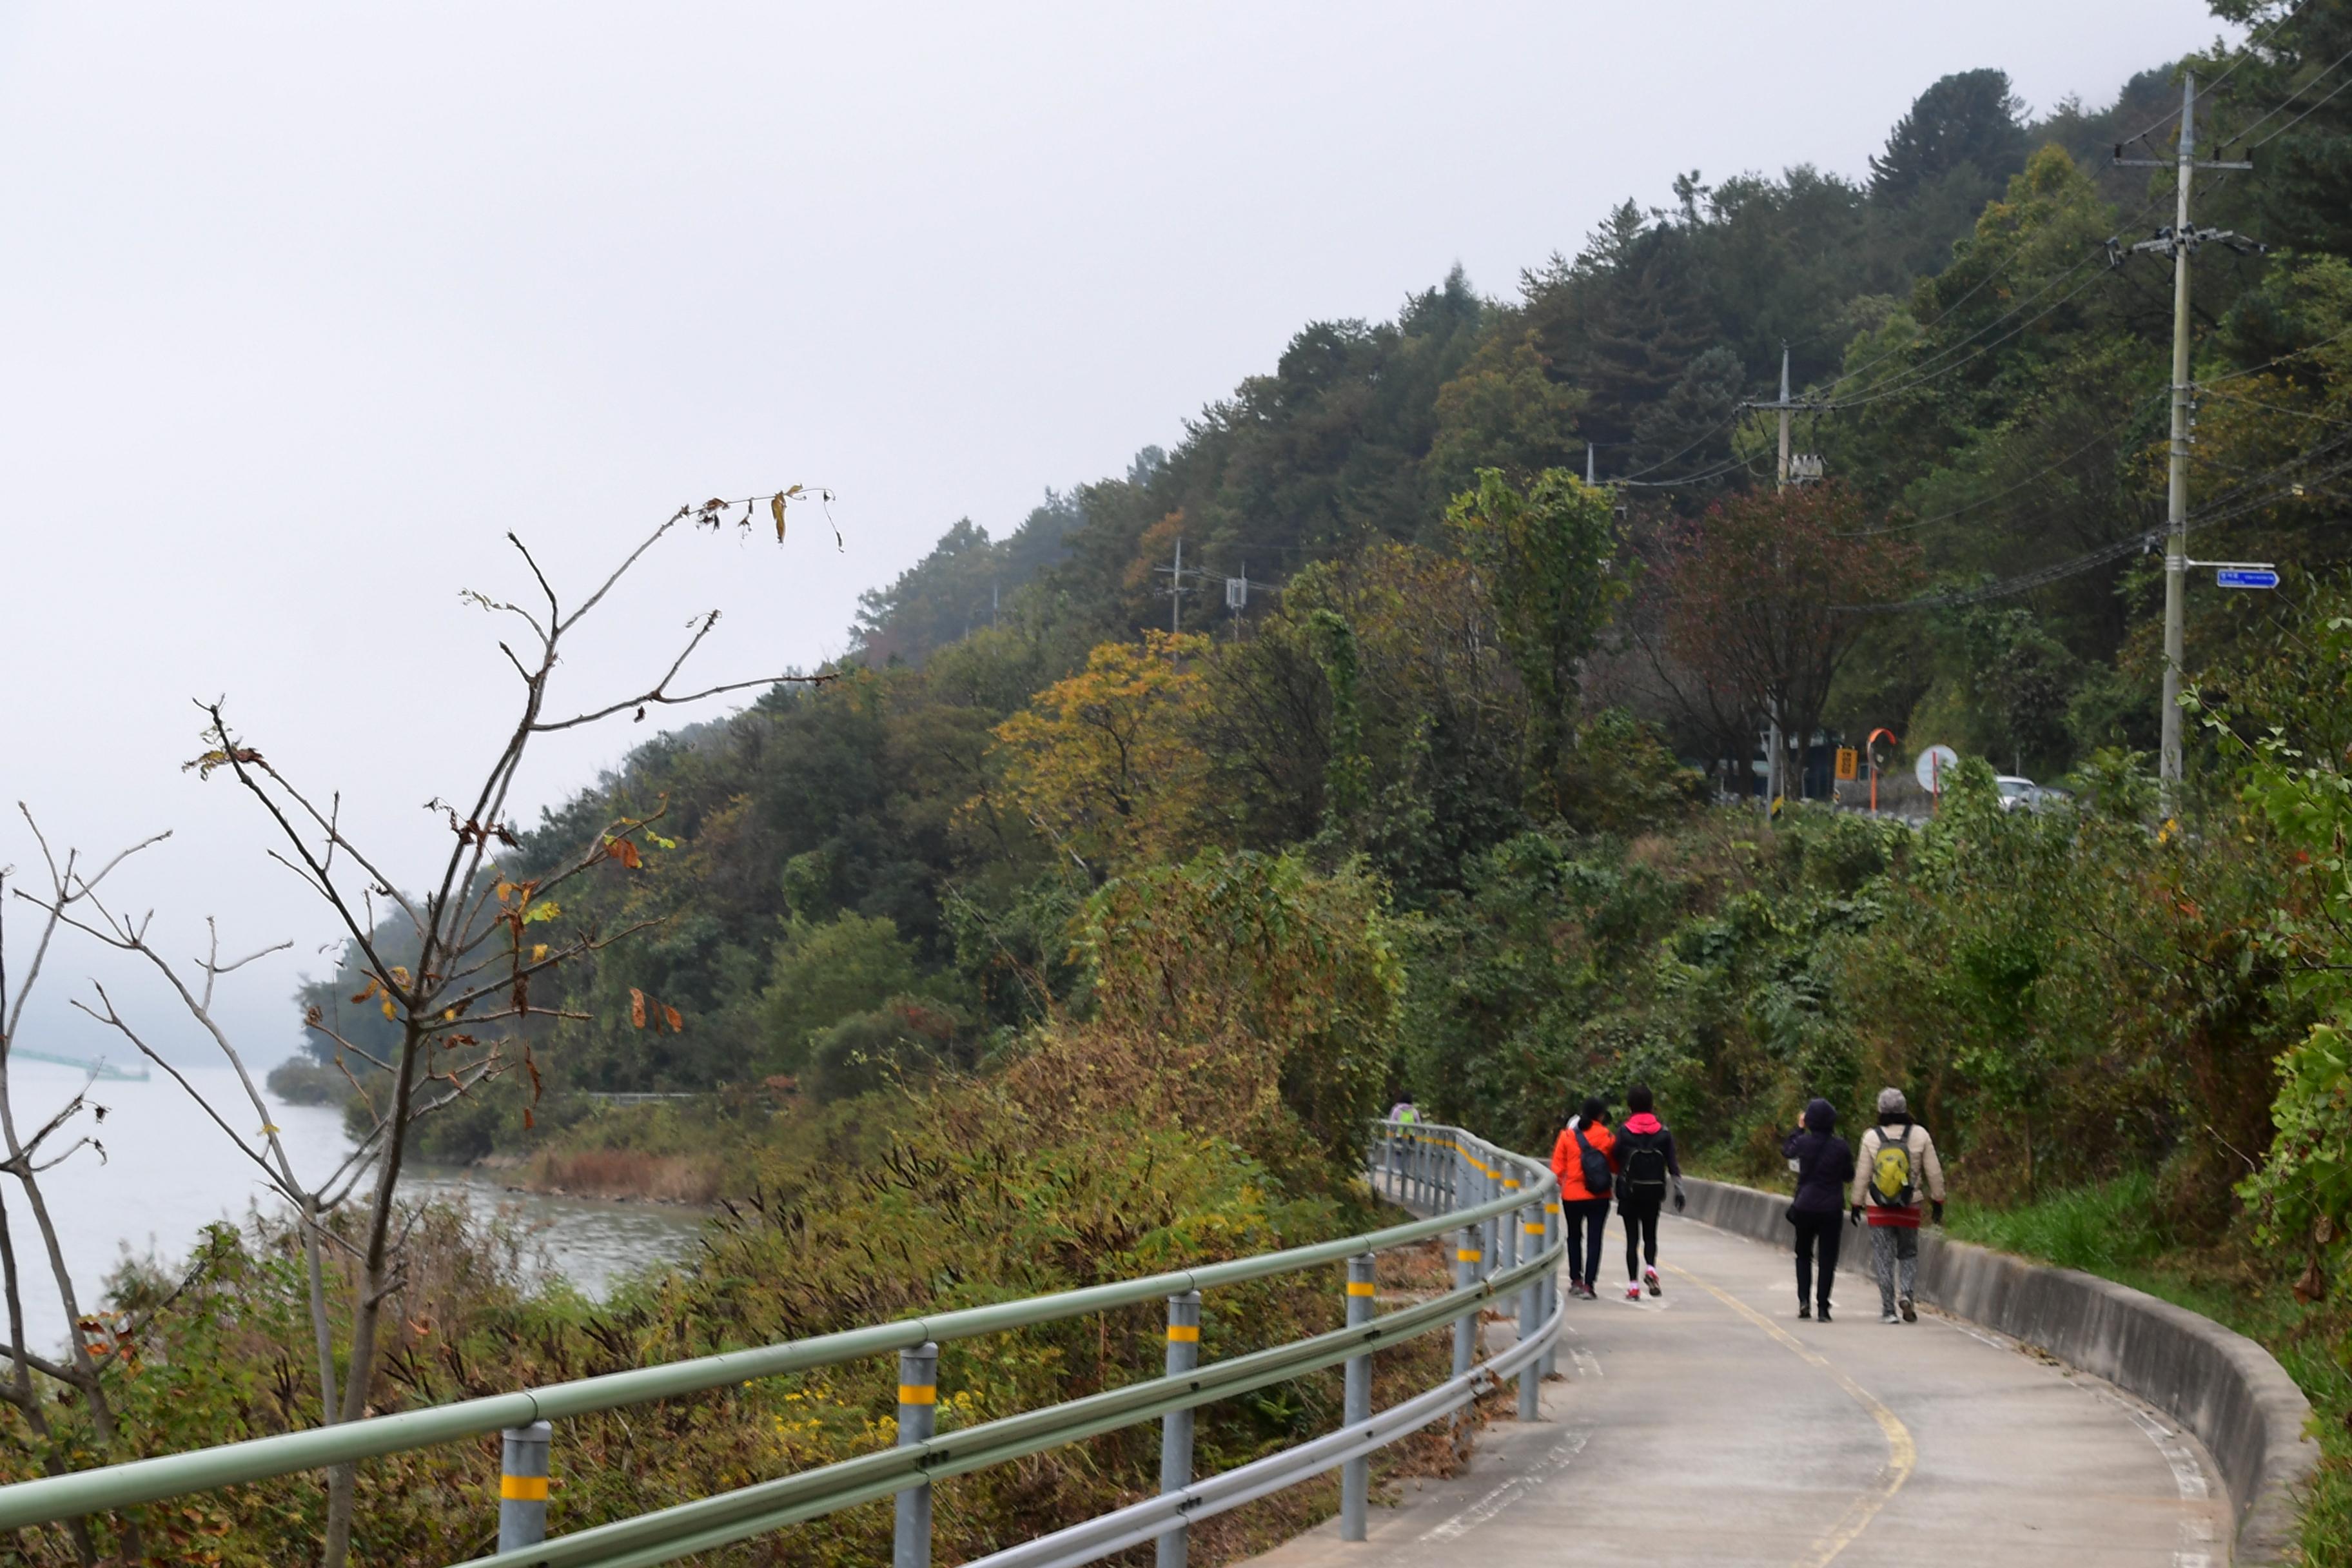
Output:
[[[456,599],[522,592],[506,529],[581,583],[680,501],[830,484],[847,548],[680,541],[564,682],[642,682],[703,607],[713,675],[811,665],[955,517],[1171,444],[1312,317],[1456,261],[1505,294],[1677,169],[1860,174],[1945,71],[2105,101],[2216,33],[2192,0],[0,7],[5,797],[59,844],[174,827],[118,891],[183,950],[207,912],[294,938],[228,1006],[275,1058],[334,931],[179,771],[191,698],[423,882],[419,802],[510,710]],[[642,736],[548,745],[529,811]],[[61,1048],[99,1046],[56,1004],[101,957],[52,959]]]

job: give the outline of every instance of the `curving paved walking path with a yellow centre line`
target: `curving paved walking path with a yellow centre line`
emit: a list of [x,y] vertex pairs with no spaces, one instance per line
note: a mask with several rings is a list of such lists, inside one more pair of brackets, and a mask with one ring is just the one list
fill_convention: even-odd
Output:
[[[1414,1483],[1258,1568],[2220,1568],[2230,1505],[2194,1436],[1999,1335],[1879,1324],[1849,1234],[1832,1324],[1797,1321],[1785,1248],[1691,1220],[1658,1237],[1663,1298],[1569,1302],[1545,1420],[1496,1422],[1465,1476]],[[1489,1326],[1489,1333],[1496,1333]],[[1508,1331],[1505,1331],[1508,1333]]]

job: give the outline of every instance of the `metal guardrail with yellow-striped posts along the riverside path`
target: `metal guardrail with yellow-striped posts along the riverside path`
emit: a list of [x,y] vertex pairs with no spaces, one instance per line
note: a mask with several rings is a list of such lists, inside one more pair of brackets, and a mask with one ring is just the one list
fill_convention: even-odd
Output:
[[[1536,1418],[1538,1385],[1550,1373],[1552,1342],[1559,1333],[1557,1269],[1564,1251],[1559,1190],[1550,1168],[1463,1128],[1414,1121],[1374,1124],[1367,1178],[1385,1197],[1406,1208],[1425,1211],[1430,1218],[1200,1269],[901,1319],[811,1340],[21,1481],[0,1486],[0,1530],[503,1432],[499,1552],[461,1568],[524,1568],[529,1563],[546,1568],[652,1568],[882,1497],[896,1497],[898,1505],[894,1568],[927,1568],[931,1561],[931,1481],[1157,1418],[1162,1422],[1162,1490],[1157,1497],[978,1559],[974,1568],[1065,1568],[1145,1540],[1160,1542],[1160,1568],[1183,1568],[1188,1521],[1329,1474],[1334,1467],[1341,1472],[1341,1537],[1364,1540],[1369,1455],[1376,1448],[1465,1408],[1484,1389],[1512,1375],[1519,1380],[1519,1418]],[[1395,1312],[1376,1312],[1374,1253],[1446,1232],[1456,1232],[1454,1288]],[[1348,1262],[1345,1328],[1247,1356],[1197,1363],[1204,1293],[1331,1262]],[[976,1427],[934,1432],[936,1366],[943,1340],[1007,1333],[1155,1298],[1164,1300],[1169,1309],[1167,1375]],[[1477,1363],[1477,1314],[1489,1302],[1512,1298],[1519,1314],[1519,1340],[1498,1356]],[[1390,1410],[1374,1413],[1371,1354],[1446,1324],[1454,1326],[1451,1378]],[[560,1439],[555,1436],[560,1429],[553,1422],[880,1354],[898,1356],[896,1448],[541,1540],[550,1446],[553,1469],[557,1474],[562,1469]],[[1204,1481],[1192,1479],[1192,1410],[1197,1406],[1327,1366],[1345,1366],[1345,1413],[1338,1432]]]

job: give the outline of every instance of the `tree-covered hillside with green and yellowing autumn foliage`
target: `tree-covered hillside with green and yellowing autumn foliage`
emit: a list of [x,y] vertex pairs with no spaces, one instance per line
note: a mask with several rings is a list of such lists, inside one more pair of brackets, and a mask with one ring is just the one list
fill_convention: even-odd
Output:
[[[2286,583],[2190,588],[2183,792],[2150,764],[2173,299],[2129,252],[2171,174],[2110,162],[2169,153],[2178,66],[2039,118],[1999,71],[1947,75],[1867,176],[1691,172],[1505,294],[1456,270],[1392,320],[1303,327],[1167,449],[1002,541],[950,527],[821,679],[517,825],[503,886],[644,823],[546,917],[550,940],[644,931],[562,971],[515,1030],[532,1070],[421,1124],[421,1152],[574,1187],[628,1154],[727,1208],[694,1267],[602,1314],[419,1284],[440,1321],[529,1333],[412,1333],[386,1401],[1338,1234],[1392,1095],[1534,1147],[1646,1079],[1743,1175],[1809,1095],[1905,1084],[1959,1206],[2107,1204],[2105,1251],[2065,1260],[2220,1302],[2352,1408],[2352,5],[2216,9],[2263,28],[2194,61],[2220,78],[2209,132],[2256,169],[2209,179],[2197,216],[2270,249],[2197,256],[2192,548]],[[1783,355],[1823,470],[1788,487],[1755,409]],[[1872,729],[1966,764],[1926,825],[1766,811],[1766,715],[1797,776]],[[2074,804],[2006,811],[1994,771],[2070,778]],[[367,997],[346,952],[299,997],[310,1070],[280,1081],[365,1093]],[[647,1091],[691,1098],[597,1100]],[[910,1211],[936,1251],[854,1255]],[[296,1288],[214,1246],[191,1347]],[[1223,1349],[1317,1312],[1270,1300]],[[1018,1366],[1134,1371],[1047,1340]],[[494,1349],[517,1342],[529,1368]],[[299,1406],[172,1389],[240,1429]],[[1204,1441],[1303,1432],[1327,1394]],[[687,1408],[666,1465],[769,1474],[887,1406],[847,1380],[746,1403],[786,1396],[757,1410],[774,1441]],[[2312,1561],[2352,1549],[2328,1427]],[[607,1439],[633,1462],[619,1434],[588,1450]],[[950,1528],[1077,1516],[1141,1465],[974,1488]],[[456,1472],[397,1505],[372,1483],[381,1561],[456,1540]],[[877,1521],[826,1528],[842,1554]]]

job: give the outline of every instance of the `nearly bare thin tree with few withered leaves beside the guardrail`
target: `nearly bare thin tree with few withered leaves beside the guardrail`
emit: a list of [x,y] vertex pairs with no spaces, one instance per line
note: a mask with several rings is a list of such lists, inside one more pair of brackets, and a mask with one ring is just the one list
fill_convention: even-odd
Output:
[[[350,1053],[374,1067],[365,1084],[358,1074],[350,1074],[348,1065],[343,1067],[367,1100],[367,1131],[336,1168],[320,1173],[315,1180],[294,1168],[278,1138],[278,1128],[270,1124],[268,1103],[261,1098],[242,1051],[214,1013],[216,983],[245,964],[278,952],[282,943],[223,961],[219,933],[214,933],[205,957],[176,964],[151,940],[151,914],[127,914],[101,900],[96,884],[103,870],[96,877],[80,877],[71,860],[52,879],[52,896],[33,900],[49,919],[42,933],[42,952],[52,931],[71,926],[148,964],[179,997],[186,1018],[195,1023],[198,1032],[235,1070],[249,1107],[259,1117],[261,1131],[254,1135],[238,1131],[233,1117],[207,1103],[188,1077],[158,1051],[155,1041],[151,1041],[151,1030],[125,1018],[103,987],[94,985],[94,997],[80,1004],[82,1011],[122,1034],[141,1056],[172,1074],[205,1107],[238,1154],[261,1168],[268,1185],[294,1208],[310,1274],[322,1422],[348,1422],[369,1413],[369,1387],[379,1361],[383,1312],[405,1284],[405,1232],[397,1197],[409,1128],[461,1103],[475,1088],[510,1070],[522,1070],[529,1077],[532,1100],[536,1103],[539,1065],[534,1060],[534,1030],[548,1023],[579,1020],[583,1013],[534,999],[534,985],[543,997],[548,992],[546,983],[555,971],[602,952],[649,924],[640,922],[614,931],[593,924],[569,924],[560,893],[576,877],[586,877],[604,865],[637,870],[642,865],[642,844],[668,844],[656,832],[661,811],[642,818],[612,818],[569,858],[539,877],[510,877],[501,870],[499,851],[520,846],[520,835],[510,823],[510,802],[515,778],[532,743],[539,736],[581,729],[621,712],[635,712],[642,722],[654,708],[687,705],[783,682],[816,684],[830,679],[826,672],[802,675],[786,670],[680,689],[687,663],[717,625],[717,611],[713,609],[687,623],[689,637],[684,646],[668,661],[652,686],[614,701],[583,705],[579,712],[553,712],[548,708],[550,682],[569,639],[576,637],[581,623],[614,595],[621,581],[663,538],[694,529],[720,531],[729,522],[748,534],[755,505],[764,501],[776,527],[776,541],[783,543],[786,510],[800,498],[830,503],[833,494],[795,484],[748,501],[713,498],[701,505],[682,505],[576,604],[564,604],[529,548],[515,534],[506,536],[529,569],[536,595],[501,599],[468,590],[463,602],[515,628],[496,646],[520,679],[517,715],[480,783],[459,797],[461,804],[440,797],[426,802],[426,809],[449,827],[449,849],[426,879],[402,882],[395,877],[346,827],[341,792],[320,797],[287,778],[261,745],[233,729],[226,703],[198,703],[205,715],[202,752],[186,769],[207,780],[233,780],[254,804],[275,839],[268,856],[327,905],[341,931],[341,940],[355,954],[365,985],[353,1001],[379,1006],[400,1032],[397,1048],[379,1056],[343,1039],[315,1009],[306,1018],[313,1030],[320,1030],[336,1044],[339,1065],[341,1053]],[[736,505],[743,508],[741,517],[731,515]],[[423,893],[416,893],[416,886],[423,886]],[[390,961],[381,936],[386,929],[402,933],[402,952],[414,954],[409,964]],[[680,1027],[675,1009],[637,992],[630,997],[630,1016],[637,1027],[647,1027],[649,1023],[652,1027]],[[524,1117],[529,1121],[529,1112]],[[42,1145],[42,1138],[54,1135],[54,1128],[42,1128],[31,1143],[19,1145],[7,1112],[5,1072],[0,1072],[0,1133],[7,1135],[9,1150],[9,1164],[0,1168],[16,1175],[28,1194],[35,1192],[35,1150]],[[327,1215],[346,1204],[365,1208],[358,1222],[348,1227],[327,1225]],[[35,1215],[40,1213],[35,1199]],[[0,1225],[0,1251],[5,1246],[7,1232]],[[334,1375],[334,1316],[329,1312],[332,1302],[327,1300],[322,1258],[329,1248],[341,1248],[348,1276],[355,1281],[353,1300],[346,1302],[348,1342],[341,1380]],[[9,1281],[14,1281],[14,1272],[9,1272]],[[71,1293],[61,1265],[59,1281]],[[24,1385],[26,1366],[31,1363],[19,1349],[16,1387]],[[59,1371],[75,1373],[82,1380],[96,1378],[94,1371],[78,1368],[80,1363]],[[75,1382],[75,1387],[82,1385]],[[353,1490],[353,1467],[329,1472],[327,1526],[320,1542],[325,1568],[341,1568],[350,1552]]]

